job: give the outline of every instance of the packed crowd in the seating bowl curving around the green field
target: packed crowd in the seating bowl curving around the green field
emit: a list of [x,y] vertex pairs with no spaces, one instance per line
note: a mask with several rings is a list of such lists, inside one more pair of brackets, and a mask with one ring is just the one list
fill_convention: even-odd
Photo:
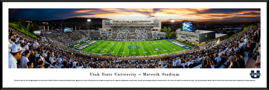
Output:
[[260,64],[260,24],[223,41],[216,39],[179,53],[159,56],[95,55],[73,50],[65,44],[100,34],[123,39],[147,39],[162,34],[152,35],[147,31],[136,33],[138,36],[124,32],[104,32],[105,35],[91,31],[42,33],[38,41],[9,27],[9,68],[245,68],[248,57],[257,60],[253,65]]

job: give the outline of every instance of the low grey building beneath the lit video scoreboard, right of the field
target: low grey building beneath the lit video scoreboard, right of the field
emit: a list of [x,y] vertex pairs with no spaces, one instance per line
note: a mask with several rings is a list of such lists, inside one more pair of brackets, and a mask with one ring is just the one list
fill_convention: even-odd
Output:
[[209,30],[195,30],[195,32],[183,31],[181,28],[176,30],[178,39],[183,41],[190,41],[195,44],[203,44],[205,41],[216,38],[214,31]]

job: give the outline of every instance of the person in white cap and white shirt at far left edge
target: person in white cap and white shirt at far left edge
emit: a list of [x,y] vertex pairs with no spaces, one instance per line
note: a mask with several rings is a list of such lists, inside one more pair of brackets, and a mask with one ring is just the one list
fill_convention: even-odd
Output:
[[9,52],[9,68],[17,68],[17,60],[22,57],[22,48],[19,45],[12,45]]

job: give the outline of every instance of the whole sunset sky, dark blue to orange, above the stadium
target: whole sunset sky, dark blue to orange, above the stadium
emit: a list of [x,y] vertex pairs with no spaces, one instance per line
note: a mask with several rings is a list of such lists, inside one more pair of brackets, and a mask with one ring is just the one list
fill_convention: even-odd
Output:
[[260,21],[260,8],[10,8],[9,18],[52,20],[72,17],[161,19],[162,21]]

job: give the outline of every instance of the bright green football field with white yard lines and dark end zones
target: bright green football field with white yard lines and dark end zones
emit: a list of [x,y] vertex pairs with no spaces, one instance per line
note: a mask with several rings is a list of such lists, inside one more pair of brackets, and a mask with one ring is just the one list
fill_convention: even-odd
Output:
[[168,39],[150,41],[90,40],[73,49],[93,54],[107,53],[121,56],[147,56],[175,53],[190,48],[192,48],[192,46],[173,39]]

